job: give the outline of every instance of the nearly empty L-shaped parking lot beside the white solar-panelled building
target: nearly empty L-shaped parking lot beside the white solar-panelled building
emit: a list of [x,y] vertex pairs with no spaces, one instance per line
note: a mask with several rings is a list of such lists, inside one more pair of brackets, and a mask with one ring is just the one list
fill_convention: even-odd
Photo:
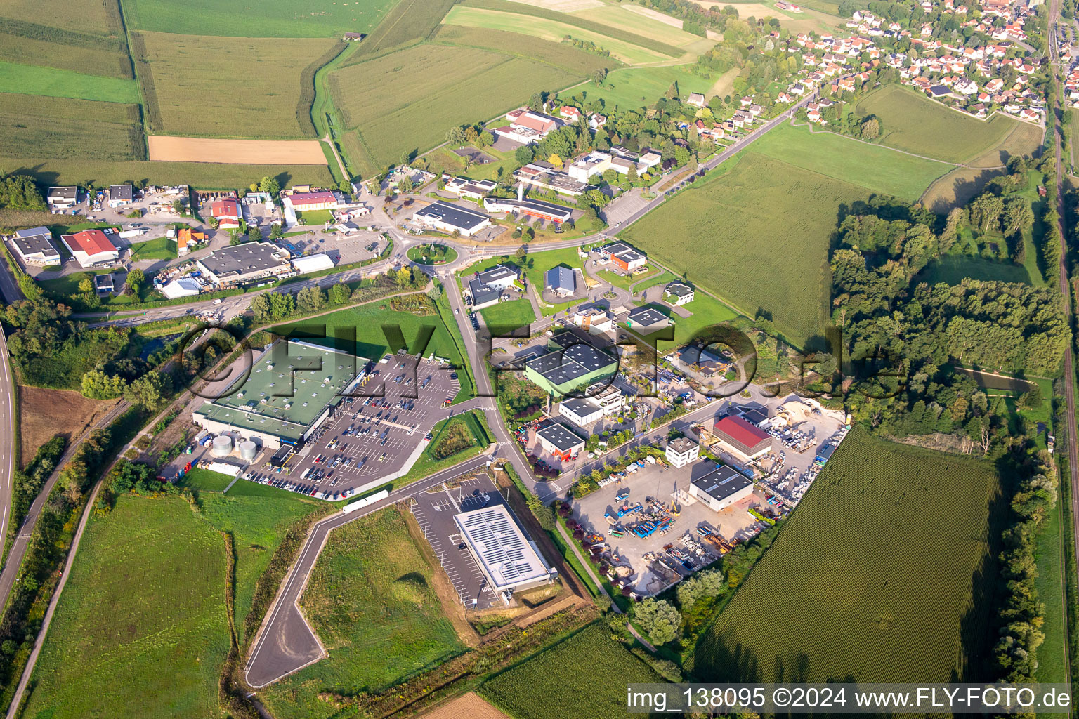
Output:
[[461,549],[461,535],[453,523],[454,514],[506,503],[491,478],[481,473],[461,480],[456,486],[441,484],[413,495],[412,499],[415,500],[412,514],[453,582],[461,604],[469,609],[498,604],[472,553]]

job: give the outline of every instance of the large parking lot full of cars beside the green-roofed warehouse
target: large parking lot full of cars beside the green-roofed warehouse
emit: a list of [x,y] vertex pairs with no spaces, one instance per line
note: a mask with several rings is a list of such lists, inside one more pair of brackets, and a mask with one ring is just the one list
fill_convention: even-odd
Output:
[[[378,374],[374,374],[378,372]],[[441,407],[461,383],[452,370],[409,355],[379,362],[371,377],[338,406],[308,444],[287,462],[287,474],[267,464],[249,473],[313,487],[315,496],[342,499],[400,476],[426,445],[435,423],[449,416]]]

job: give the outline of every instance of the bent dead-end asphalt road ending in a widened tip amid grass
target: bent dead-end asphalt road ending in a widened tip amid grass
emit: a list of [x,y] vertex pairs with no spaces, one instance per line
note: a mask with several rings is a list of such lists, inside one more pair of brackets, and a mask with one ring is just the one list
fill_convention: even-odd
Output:
[[330,531],[406,497],[425,492],[465,472],[479,469],[487,464],[488,459],[489,457],[486,455],[467,459],[432,474],[425,480],[395,489],[390,493],[388,497],[370,507],[350,514],[338,512],[315,524],[300,549],[296,564],[285,577],[285,582],[282,584],[282,589],[262,623],[262,628],[256,637],[244,672],[247,683],[255,689],[261,689],[325,656],[325,650],[308,625],[303,614],[300,613],[297,600],[303,594],[303,587],[308,584],[311,570],[315,566],[318,554],[323,551]]

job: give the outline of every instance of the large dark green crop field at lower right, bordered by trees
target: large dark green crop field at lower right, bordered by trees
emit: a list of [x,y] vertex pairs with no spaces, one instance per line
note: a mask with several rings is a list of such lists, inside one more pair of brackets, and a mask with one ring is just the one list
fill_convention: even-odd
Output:
[[694,676],[992,679],[991,538],[1008,511],[991,462],[855,428],[697,645]]

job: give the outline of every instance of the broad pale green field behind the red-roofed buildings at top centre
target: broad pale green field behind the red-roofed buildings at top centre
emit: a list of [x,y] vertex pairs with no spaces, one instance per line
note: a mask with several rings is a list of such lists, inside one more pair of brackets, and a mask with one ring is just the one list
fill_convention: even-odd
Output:
[[[535,91],[564,87],[578,78],[523,57],[421,44],[344,65],[329,74],[329,86],[349,128],[344,144],[350,161],[369,174],[400,162],[402,153],[441,143],[451,125],[488,120]],[[429,121],[436,116],[438,122]]]

